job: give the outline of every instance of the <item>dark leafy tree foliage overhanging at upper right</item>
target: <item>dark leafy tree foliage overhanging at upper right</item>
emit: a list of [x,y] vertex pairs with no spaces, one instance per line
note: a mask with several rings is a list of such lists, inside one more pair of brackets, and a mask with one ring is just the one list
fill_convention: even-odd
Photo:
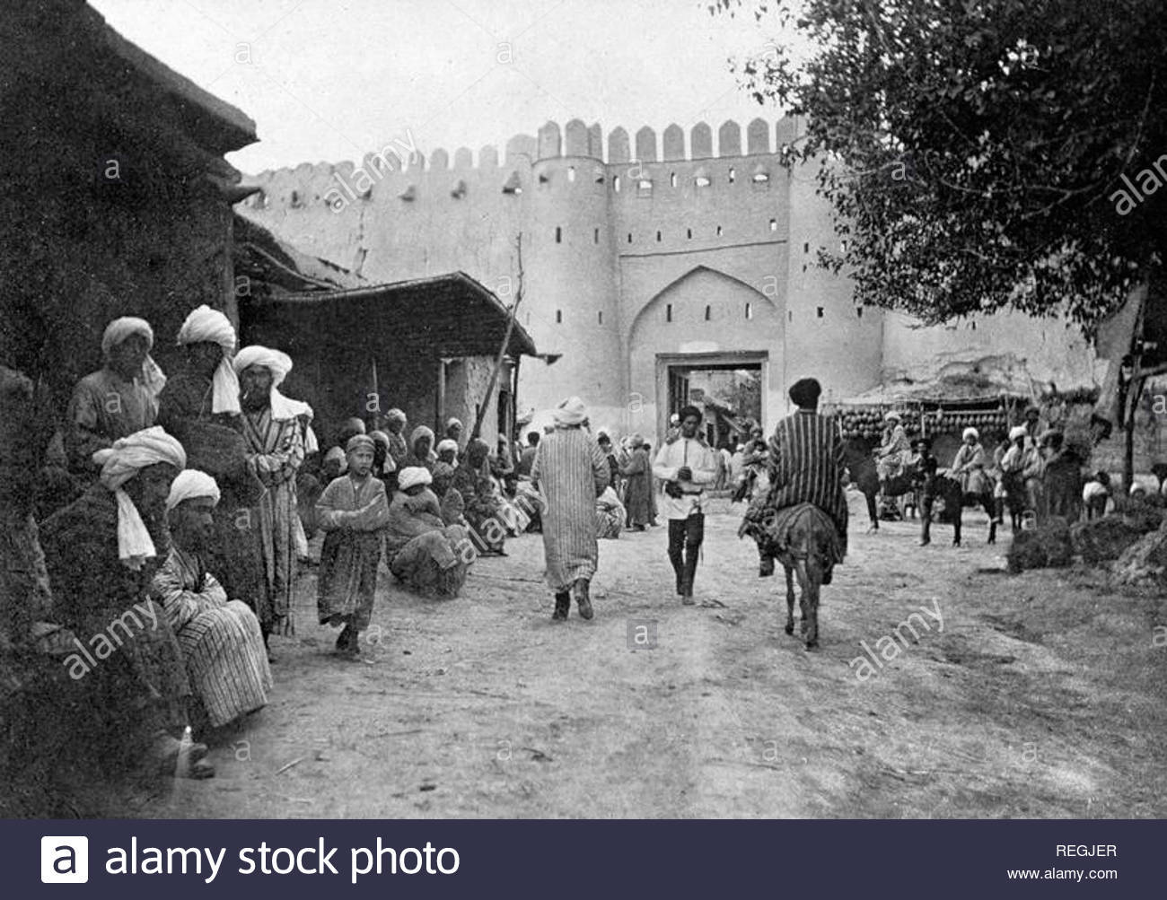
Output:
[[847,238],[820,262],[858,302],[927,322],[1060,314],[1089,332],[1160,269],[1167,176],[1139,175],[1167,173],[1162,0],[710,6],[745,10],[775,40],[738,72],[806,117],[788,159],[818,167]]

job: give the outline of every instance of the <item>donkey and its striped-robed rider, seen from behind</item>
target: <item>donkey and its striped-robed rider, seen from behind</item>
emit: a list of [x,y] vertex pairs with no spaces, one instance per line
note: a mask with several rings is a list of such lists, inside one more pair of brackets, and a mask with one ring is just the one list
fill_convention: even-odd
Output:
[[[843,434],[833,416],[818,414],[822,393],[813,378],[801,379],[790,388],[798,410],[778,422],[770,437],[769,492],[750,502],[738,532],[739,537],[748,534],[757,542],[760,577],[774,574],[775,558],[782,562],[790,610],[791,578],[797,569],[808,647],[818,642],[818,585],[831,583],[834,565],[847,551]],[[787,633],[792,630],[790,612]]]

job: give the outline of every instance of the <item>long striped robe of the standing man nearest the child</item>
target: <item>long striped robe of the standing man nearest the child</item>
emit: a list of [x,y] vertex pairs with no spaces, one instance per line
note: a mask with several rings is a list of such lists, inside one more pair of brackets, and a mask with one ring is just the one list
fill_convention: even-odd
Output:
[[252,508],[251,527],[258,520],[264,558],[265,596],[259,619],[274,634],[294,634],[292,588],[295,581],[296,522],[295,474],[303,463],[303,431],[298,419],[272,419],[265,407],[243,414],[247,443],[247,470],[259,478],[264,493]]

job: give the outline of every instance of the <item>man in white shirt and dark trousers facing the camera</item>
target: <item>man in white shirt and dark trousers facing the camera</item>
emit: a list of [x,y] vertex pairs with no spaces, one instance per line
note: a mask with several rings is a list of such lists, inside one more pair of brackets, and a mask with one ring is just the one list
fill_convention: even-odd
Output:
[[677,593],[686,606],[693,604],[697,556],[705,539],[705,485],[717,477],[713,451],[698,429],[701,410],[680,410],[680,431],[666,441],[652,464],[652,474],[665,481],[664,514],[669,519],[669,561],[677,575]]

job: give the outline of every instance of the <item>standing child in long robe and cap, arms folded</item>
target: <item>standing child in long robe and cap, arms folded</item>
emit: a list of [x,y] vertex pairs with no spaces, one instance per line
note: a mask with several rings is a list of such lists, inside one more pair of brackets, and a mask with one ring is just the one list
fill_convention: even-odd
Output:
[[326,532],[320,555],[317,613],[321,625],[344,626],[336,649],[355,659],[369,627],[377,591],[382,530],[389,523],[385,485],[371,474],[375,442],[355,435],[345,445],[348,474],[331,481],[316,502]]

